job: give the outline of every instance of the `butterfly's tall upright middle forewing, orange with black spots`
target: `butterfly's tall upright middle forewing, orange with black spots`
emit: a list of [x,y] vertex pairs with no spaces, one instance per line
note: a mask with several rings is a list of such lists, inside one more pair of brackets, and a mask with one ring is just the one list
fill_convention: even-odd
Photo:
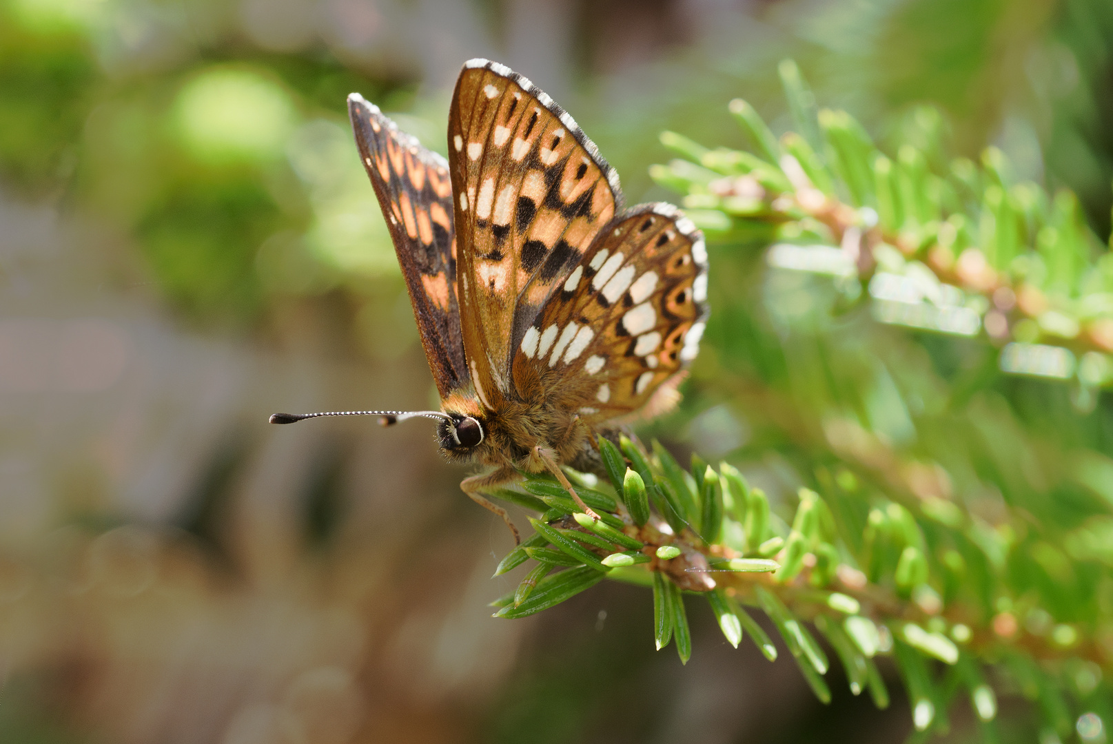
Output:
[[515,399],[510,367],[552,289],[621,208],[618,175],[532,82],[484,59],[464,65],[449,115],[464,349],[475,391]]

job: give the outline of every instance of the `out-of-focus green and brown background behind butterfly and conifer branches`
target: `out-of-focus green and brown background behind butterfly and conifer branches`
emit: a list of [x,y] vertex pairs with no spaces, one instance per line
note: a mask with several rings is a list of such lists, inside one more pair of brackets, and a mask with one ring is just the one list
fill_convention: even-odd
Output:
[[[657,654],[636,587],[494,619],[486,603],[518,581],[490,578],[511,538],[460,493],[431,426],[266,424],[436,405],[345,97],[443,152],[451,86],[479,56],[571,110],[630,204],[673,198],[647,176],[669,157],[662,129],[737,146],[737,96],[788,128],[776,68],[794,57],[880,142],[934,103],[954,152],[996,145],[1109,235],[1107,0],[4,0],[0,741],[907,735],[899,693],[884,712],[845,692],[824,707],[702,606],[691,662]],[[752,379],[795,379],[781,394],[807,408],[814,371],[791,365],[869,378],[867,418],[899,445],[924,408],[909,390],[946,374],[924,360],[967,351],[874,357],[846,327],[792,346],[778,318],[802,289],[756,256],[712,247],[709,340],[651,433],[781,498],[806,445]],[[1107,426],[1047,386],[1002,395],[1027,401],[1017,426]],[[993,400],[972,405],[1006,427]]]

